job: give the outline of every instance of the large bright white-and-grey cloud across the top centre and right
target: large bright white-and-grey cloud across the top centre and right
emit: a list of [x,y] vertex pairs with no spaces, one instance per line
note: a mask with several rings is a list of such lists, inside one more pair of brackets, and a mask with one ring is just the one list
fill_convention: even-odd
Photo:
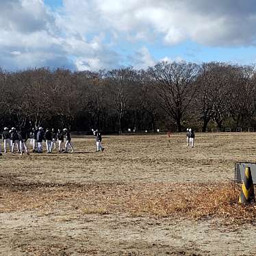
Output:
[[58,25],[81,36],[105,31],[131,42],[162,36],[170,45],[187,39],[209,46],[255,44],[253,0],[64,0],[62,14]]

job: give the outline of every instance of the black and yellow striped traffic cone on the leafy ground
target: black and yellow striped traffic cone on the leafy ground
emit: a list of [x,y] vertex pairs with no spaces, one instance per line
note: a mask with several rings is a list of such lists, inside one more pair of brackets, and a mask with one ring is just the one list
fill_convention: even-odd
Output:
[[251,175],[251,168],[246,167],[244,172],[244,182],[242,185],[242,191],[239,198],[239,203],[253,203],[255,202],[253,179]]

